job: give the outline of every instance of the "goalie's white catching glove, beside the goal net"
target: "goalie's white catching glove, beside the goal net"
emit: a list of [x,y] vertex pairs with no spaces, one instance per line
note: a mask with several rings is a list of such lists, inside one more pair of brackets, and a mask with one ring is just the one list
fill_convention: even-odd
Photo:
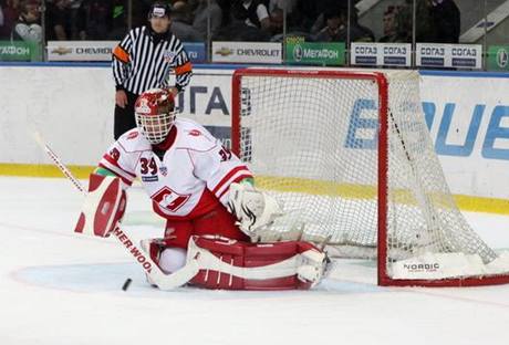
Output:
[[251,239],[267,229],[273,221],[283,216],[278,201],[254,189],[249,184],[231,184],[228,208],[233,213],[240,230]]

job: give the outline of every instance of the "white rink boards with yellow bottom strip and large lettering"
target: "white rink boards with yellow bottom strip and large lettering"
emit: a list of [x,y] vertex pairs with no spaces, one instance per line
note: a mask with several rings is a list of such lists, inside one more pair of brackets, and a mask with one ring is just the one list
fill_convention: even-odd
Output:
[[[179,96],[180,116],[229,144],[231,66],[197,66]],[[0,174],[60,176],[31,138],[45,137],[79,177],[113,140],[114,87],[108,66],[0,65]],[[449,187],[468,210],[509,213],[509,76],[422,74],[423,109]]]

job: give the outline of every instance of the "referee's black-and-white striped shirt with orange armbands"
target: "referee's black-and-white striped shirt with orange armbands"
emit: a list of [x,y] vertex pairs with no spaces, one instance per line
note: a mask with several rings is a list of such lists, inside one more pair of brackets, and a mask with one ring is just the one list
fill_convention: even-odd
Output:
[[154,87],[169,87],[172,71],[175,86],[184,90],[193,75],[191,64],[181,42],[169,31],[156,43],[147,27],[135,28],[113,51],[116,90],[139,95]]

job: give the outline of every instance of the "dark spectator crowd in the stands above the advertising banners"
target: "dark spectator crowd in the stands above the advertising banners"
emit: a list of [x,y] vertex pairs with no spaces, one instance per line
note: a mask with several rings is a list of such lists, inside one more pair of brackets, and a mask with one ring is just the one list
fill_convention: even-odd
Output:
[[[349,1],[351,8],[349,10]],[[0,41],[120,40],[128,25],[146,23],[152,0],[0,0]],[[359,0],[168,0],[172,31],[184,42],[282,41],[288,35],[316,42],[374,42],[359,22]],[[454,0],[417,0],[417,42],[456,43],[460,14]],[[284,18],[284,13],[287,14]],[[413,0],[388,6],[380,42],[412,42]],[[382,20],[382,19],[381,19]],[[41,25],[44,23],[45,30]],[[350,30],[347,29],[350,24]]]

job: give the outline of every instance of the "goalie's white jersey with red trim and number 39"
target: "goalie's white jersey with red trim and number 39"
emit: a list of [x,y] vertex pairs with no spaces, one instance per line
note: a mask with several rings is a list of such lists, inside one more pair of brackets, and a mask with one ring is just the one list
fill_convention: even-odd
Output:
[[160,159],[138,128],[131,129],[110,147],[100,166],[127,186],[139,177],[154,210],[169,219],[193,219],[219,202],[226,206],[229,186],[252,178],[201,125],[178,118],[169,135],[173,143]]

